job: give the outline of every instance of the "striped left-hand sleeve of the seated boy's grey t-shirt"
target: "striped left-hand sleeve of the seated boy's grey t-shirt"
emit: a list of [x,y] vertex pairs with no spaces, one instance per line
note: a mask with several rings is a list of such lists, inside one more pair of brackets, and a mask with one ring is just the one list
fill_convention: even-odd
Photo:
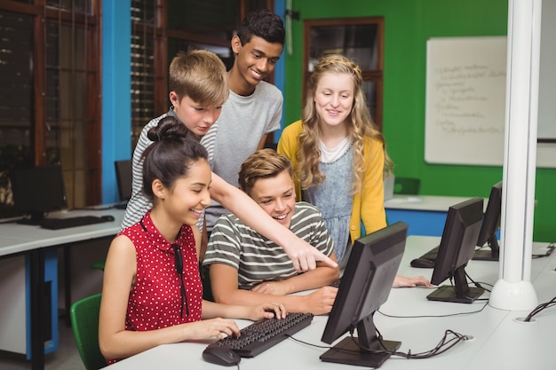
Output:
[[233,215],[220,216],[212,228],[203,266],[227,264],[239,270],[241,234],[230,217]]

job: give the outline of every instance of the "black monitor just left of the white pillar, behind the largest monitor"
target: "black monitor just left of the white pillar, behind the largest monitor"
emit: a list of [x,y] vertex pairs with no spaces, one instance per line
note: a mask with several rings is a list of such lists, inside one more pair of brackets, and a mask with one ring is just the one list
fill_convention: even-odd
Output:
[[484,291],[481,287],[469,287],[465,275],[481,229],[482,207],[482,198],[472,198],[449,208],[431,282],[440,285],[453,279],[453,285],[438,287],[426,296],[428,300],[473,303]]

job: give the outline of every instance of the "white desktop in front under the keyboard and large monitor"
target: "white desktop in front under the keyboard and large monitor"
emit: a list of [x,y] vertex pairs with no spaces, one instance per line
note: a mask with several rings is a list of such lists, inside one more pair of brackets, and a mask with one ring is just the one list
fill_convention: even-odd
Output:
[[[409,237],[400,273],[408,276],[424,275],[430,278],[433,270],[414,269],[409,266],[409,261],[438,245],[439,241],[440,238],[434,237]],[[466,271],[475,281],[494,284],[498,279],[497,266],[496,262],[472,261]],[[550,300],[556,293],[556,289],[553,288],[556,286],[554,281],[556,272],[552,272],[554,267],[556,267],[556,254],[533,260],[531,279],[539,291],[539,303]],[[429,302],[426,300],[426,295],[431,291],[430,288],[420,287],[392,289],[388,302],[380,309],[384,314],[380,312],[375,314],[375,324],[385,339],[400,341],[400,350],[407,352],[410,349],[412,353],[433,349],[446,329],[472,335],[474,339],[458,343],[456,347],[434,358],[392,357],[386,360],[381,369],[491,370],[493,368],[548,369],[554,367],[556,360],[552,355],[552,335],[556,333],[556,308],[538,315],[536,323],[516,323],[512,318],[525,317],[528,312],[496,310],[488,305],[480,311],[486,301],[476,301],[472,304]],[[480,298],[488,298],[488,292]],[[480,312],[463,316],[438,317],[471,311]],[[401,318],[385,315],[401,316]],[[415,316],[423,317],[415,318]],[[327,319],[327,316],[315,317],[309,327],[301,330],[294,337],[316,345],[327,345],[321,342]],[[243,327],[250,322],[238,320],[238,323]],[[222,369],[222,366],[203,361],[202,352],[205,347],[205,342],[162,345],[107,368],[110,370],[152,368],[171,370],[186,367]],[[361,368],[322,362],[319,356],[324,351],[324,349],[287,339],[255,358],[242,358],[239,365],[242,370]]]

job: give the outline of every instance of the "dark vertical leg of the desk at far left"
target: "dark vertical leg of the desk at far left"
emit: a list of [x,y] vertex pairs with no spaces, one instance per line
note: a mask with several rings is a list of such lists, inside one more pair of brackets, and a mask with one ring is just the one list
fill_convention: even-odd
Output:
[[[31,266],[31,369],[44,370],[44,250],[29,252]],[[50,318],[48,318],[50,319]]]

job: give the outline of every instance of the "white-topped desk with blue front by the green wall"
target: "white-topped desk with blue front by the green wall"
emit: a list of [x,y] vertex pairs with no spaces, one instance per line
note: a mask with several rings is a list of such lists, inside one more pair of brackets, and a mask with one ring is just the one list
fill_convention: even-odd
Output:
[[[441,236],[449,207],[471,198],[394,194],[385,201],[386,218],[389,224],[398,221],[408,224],[408,235]],[[488,199],[484,201],[484,209],[487,203]]]

